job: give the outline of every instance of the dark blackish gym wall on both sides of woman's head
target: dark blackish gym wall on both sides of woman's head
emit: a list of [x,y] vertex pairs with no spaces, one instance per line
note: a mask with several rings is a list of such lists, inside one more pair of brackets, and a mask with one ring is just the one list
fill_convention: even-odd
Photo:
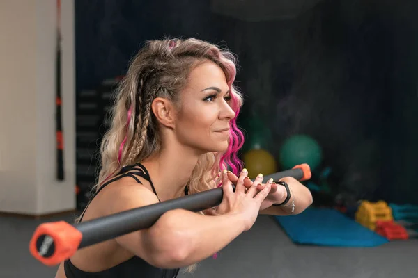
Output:
[[208,1],[76,1],[77,91],[123,74],[145,40],[221,43],[238,55],[244,115],[274,136],[318,140],[334,187],[355,198],[418,202],[417,3],[321,2],[293,20],[243,22]]

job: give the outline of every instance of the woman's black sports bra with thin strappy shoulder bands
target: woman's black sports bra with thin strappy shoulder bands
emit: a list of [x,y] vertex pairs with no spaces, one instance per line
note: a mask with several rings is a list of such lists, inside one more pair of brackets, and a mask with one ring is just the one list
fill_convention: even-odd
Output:
[[[137,168],[139,167],[139,169]],[[99,190],[91,197],[91,200],[98,195],[100,190],[102,190],[105,186],[109,185],[110,183],[121,179],[122,177],[132,177],[132,179],[135,179],[138,183],[141,183],[137,176],[142,177],[146,179],[151,185],[151,188],[153,188],[153,192],[155,195],[157,195],[157,192],[155,191],[153,182],[150,179],[150,175],[148,171],[146,170],[146,167],[144,165],[141,165],[141,163],[137,163],[135,165],[128,165],[121,169],[121,171],[118,173],[118,177],[111,179],[110,181],[107,181],[104,183]],[[142,184],[142,183],[141,183]],[[185,188],[185,195],[188,194],[187,187]],[[158,195],[157,195],[158,198]],[[88,205],[91,203],[88,203]],[[158,198],[160,201],[160,198]],[[161,202],[161,201],[160,201]],[[86,206],[86,209],[88,208],[88,205]],[[80,221],[82,220],[84,213],[86,212],[86,209],[84,209],[84,212],[82,213],[80,217]],[[143,259],[141,259],[139,256],[133,256],[131,259],[128,259],[127,261],[124,261],[123,263],[120,263],[118,265],[115,265],[112,268],[109,268],[107,270],[103,270],[100,272],[85,272],[83,270],[79,270],[79,268],[75,267],[71,263],[71,261],[68,259],[64,261],[64,271],[65,276],[67,278],[141,278],[141,277],[161,277],[161,278],[175,278],[178,275],[179,268],[176,269],[162,269],[162,268],[156,268],[153,265],[150,265]]]

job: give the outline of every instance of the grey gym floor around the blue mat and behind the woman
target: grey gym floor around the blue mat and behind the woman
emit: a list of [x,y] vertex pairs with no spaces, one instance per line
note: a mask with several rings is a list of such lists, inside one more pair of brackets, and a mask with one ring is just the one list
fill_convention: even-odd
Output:
[[[65,220],[73,215],[42,221]],[[29,254],[28,244],[41,220],[0,217],[0,277],[54,277],[56,267],[42,265]],[[219,253],[199,263],[193,275],[203,277],[416,278],[418,240],[373,248],[298,246],[269,215]]]

